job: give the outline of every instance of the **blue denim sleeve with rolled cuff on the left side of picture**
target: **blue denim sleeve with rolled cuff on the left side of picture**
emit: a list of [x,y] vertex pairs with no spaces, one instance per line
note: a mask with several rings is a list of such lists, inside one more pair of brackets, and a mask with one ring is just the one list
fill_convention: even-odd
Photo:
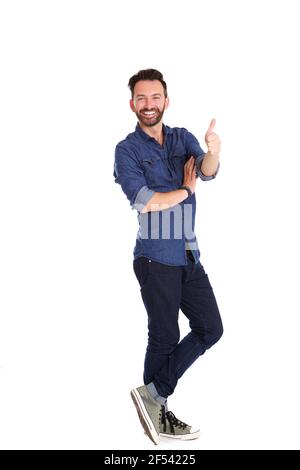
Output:
[[141,212],[147,202],[154,195],[154,191],[147,186],[143,169],[134,155],[117,145],[114,162],[115,182],[121,185],[127,196],[131,208]]

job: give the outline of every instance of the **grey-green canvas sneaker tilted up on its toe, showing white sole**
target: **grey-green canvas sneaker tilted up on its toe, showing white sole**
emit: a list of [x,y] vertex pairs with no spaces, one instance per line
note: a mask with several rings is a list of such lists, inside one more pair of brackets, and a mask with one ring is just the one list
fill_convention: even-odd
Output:
[[152,398],[145,385],[134,388],[131,390],[130,395],[145,433],[154,444],[158,444],[164,406]]

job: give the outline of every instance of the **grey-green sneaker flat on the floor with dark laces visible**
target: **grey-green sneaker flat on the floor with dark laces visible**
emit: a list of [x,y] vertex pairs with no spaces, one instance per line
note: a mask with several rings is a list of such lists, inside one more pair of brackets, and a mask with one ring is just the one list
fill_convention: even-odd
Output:
[[197,439],[200,436],[200,431],[179,421],[172,411],[164,413],[163,410],[160,422],[160,436],[187,441],[189,439]]

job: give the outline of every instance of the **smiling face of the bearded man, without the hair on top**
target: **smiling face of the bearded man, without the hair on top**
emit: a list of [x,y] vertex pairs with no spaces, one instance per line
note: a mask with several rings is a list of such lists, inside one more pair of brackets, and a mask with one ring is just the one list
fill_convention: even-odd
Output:
[[165,98],[164,87],[159,80],[137,82],[130,107],[144,126],[153,127],[158,124],[168,105],[169,99]]

